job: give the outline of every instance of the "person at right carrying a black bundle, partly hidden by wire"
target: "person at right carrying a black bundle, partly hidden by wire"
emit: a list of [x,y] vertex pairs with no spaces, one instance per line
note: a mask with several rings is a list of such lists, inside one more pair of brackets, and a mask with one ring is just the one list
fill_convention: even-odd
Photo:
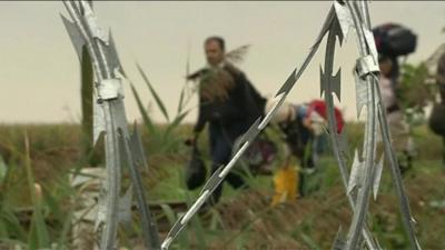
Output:
[[[413,53],[417,46],[417,36],[406,27],[384,23],[373,29],[378,66],[380,68],[379,90],[386,109],[392,146],[398,158],[402,174],[412,168],[413,140],[406,122],[404,102],[400,99],[400,67],[398,59]],[[382,141],[382,138],[378,138]]]

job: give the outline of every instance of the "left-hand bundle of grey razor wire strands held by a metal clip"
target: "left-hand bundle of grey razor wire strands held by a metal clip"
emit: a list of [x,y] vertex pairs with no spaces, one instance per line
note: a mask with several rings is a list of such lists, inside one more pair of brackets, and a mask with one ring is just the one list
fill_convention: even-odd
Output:
[[[82,48],[88,49],[95,72],[96,94],[93,100],[93,142],[103,133],[107,177],[101,187],[96,230],[100,229],[100,249],[117,249],[117,228],[120,222],[131,219],[132,190],[136,192],[140,212],[144,242],[150,250],[159,249],[160,240],[155,220],[146,202],[139,168],[147,161],[140,137],[135,126],[128,131],[123,107],[121,78],[125,72],[119,62],[115,43],[109,33],[105,36],[87,1],[63,1],[72,22],[61,16],[75,49],[81,57]],[[82,9],[83,11],[80,11]],[[119,73],[121,77],[119,77]],[[131,186],[121,197],[122,166],[129,167]]]

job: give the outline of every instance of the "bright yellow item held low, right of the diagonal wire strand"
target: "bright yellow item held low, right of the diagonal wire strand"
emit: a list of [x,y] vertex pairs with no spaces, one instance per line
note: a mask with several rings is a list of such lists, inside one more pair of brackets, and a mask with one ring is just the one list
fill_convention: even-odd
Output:
[[274,176],[275,194],[271,206],[297,198],[298,172],[296,167],[286,166]]

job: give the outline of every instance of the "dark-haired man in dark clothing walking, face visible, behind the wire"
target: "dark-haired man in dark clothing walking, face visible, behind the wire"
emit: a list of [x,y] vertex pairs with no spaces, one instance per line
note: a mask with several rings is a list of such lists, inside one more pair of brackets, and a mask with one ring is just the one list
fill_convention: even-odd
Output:
[[[207,66],[189,76],[189,79],[197,80],[199,84],[199,110],[194,136],[188,141],[196,143],[208,124],[211,172],[215,172],[229,162],[236,139],[263,114],[265,99],[246,74],[226,60],[222,38],[207,38],[204,49]],[[240,168],[234,168],[226,178],[227,182],[234,188],[245,187],[241,172]],[[218,202],[222,183],[212,193],[211,203]]]

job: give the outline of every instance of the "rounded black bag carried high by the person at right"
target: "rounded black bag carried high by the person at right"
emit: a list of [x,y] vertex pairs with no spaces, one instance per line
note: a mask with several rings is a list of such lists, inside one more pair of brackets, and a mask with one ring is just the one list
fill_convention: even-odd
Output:
[[378,53],[399,57],[416,50],[417,36],[406,27],[385,23],[373,29]]

